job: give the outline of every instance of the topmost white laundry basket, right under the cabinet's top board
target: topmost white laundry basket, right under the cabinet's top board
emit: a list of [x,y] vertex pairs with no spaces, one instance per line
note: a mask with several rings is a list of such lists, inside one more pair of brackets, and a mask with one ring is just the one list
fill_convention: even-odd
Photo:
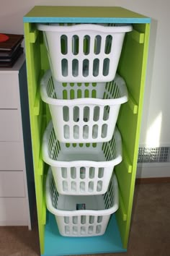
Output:
[[131,25],[38,24],[43,31],[53,77],[60,82],[114,79],[125,33]]

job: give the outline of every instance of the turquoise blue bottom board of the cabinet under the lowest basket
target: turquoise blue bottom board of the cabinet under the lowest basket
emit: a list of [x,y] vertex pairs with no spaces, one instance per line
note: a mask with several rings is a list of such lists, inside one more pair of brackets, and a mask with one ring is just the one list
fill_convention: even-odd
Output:
[[45,225],[45,253],[42,256],[83,255],[95,253],[126,252],[122,248],[115,215],[112,215],[103,236],[66,237],[58,231],[55,217],[48,212]]

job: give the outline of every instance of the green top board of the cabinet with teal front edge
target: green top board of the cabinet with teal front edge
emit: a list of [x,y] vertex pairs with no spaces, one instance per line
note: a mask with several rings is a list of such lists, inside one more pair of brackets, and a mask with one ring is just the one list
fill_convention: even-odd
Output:
[[24,22],[109,22],[109,20],[110,22],[151,22],[150,18],[122,7],[36,6],[24,16]]

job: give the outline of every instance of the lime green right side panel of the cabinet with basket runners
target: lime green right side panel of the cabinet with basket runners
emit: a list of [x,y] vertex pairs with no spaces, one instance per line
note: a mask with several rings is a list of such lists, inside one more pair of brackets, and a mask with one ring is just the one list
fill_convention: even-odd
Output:
[[133,32],[125,38],[118,72],[125,79],[129,101],[122,106],[117,125],[122,135],[123,161],[115,171],[120,188],[120,209],[117,223],[123,246],[128,246],[130,219],[133,207],[138,143],[146,80],[150,25],[133,25]]

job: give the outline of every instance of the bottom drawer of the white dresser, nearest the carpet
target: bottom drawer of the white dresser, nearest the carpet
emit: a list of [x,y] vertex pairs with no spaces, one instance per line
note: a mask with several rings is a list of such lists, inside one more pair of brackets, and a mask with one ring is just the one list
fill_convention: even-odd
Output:
[[0,197],[0,226],[27,226],[25,198]]

